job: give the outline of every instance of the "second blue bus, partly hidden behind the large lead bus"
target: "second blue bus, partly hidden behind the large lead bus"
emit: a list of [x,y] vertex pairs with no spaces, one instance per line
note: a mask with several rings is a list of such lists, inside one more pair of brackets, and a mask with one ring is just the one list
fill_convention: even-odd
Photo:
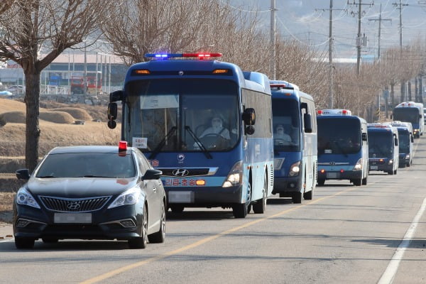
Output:
[[286,81],[271,81],[273,194],[293,203],[312,200],[317,185],[317,119],[314,99]]

